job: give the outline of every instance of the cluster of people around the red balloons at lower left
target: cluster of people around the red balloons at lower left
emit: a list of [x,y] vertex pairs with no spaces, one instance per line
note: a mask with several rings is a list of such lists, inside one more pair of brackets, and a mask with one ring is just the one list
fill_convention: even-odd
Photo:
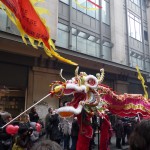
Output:
[[[12,119],[8,112],[0,113],[0,127]],[[41,131],[37,131],[36,124],[40,124]],[[29,114],[23,114],[17,120],[11,123],[14,127],[18,126],[16,134],[7,133],[6,127],[0,131],[0,149],[1,150],[25,150],[31,149],[32,145],[44,134],[44,125],[40,122],[35,108],[32,108]],[[13,129],[10,129],[13,130]]]

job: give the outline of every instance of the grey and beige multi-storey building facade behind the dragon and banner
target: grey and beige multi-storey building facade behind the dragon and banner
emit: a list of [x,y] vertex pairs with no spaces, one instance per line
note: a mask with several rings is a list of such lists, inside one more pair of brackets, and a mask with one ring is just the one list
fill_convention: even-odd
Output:
[[[75,61],[80,71],[96,74],[105,69],[104,84],[118,93],[141,93],[137,79],[138,65],[150,86],[150,7],[146,0],[50,0],[42,5],[50,10],[46,17],[58,52]],[[40,4],[39,4],[40,5]],[[64,70],[67,79],[75,67],[48,58],[40,47],[26,46],[5,12],[0,10],[0,109],[14,116],[49,92],[49,84],[61,80]],[[150,90],[148,89],[149,93]],[[63,99],[63,100],[66,100]],[[69,100],[69,99],[67,99]],[[47,98],[57,108],[59,100]]]

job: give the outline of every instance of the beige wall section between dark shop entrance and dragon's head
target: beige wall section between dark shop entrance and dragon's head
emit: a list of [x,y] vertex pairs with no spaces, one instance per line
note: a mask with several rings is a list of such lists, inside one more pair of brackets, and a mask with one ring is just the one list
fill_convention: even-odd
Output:
[[[58,70],[33,67],[29,71],[28,91],[27,91],[27,107],[33,102],[39,101],[50,92],[50,84],[53,81],[61,81]],[[47,97],[44,102],[53,108],[59,107],[59,100],[55,96]],[[47,112],[47,111],[46,111]]]

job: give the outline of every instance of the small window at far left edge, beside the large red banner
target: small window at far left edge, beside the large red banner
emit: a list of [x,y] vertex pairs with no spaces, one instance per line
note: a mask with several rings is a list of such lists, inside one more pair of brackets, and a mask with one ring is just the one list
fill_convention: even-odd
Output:
[[7,15],[5,11],[0,9],[0,30],[6,31],[6,26],[7,26]]

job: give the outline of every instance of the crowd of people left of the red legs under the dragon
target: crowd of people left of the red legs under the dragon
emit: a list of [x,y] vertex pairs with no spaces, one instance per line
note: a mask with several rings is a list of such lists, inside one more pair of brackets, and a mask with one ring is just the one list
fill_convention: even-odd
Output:
[[[11,119],[10,113],[0,113],[0,127]],[[40,132],[36,129],[36,123],[41,125]],[[33,107],[29,114],[23,114],[11,124],[19,126],[19,130],[17,134],[12,135],[6,132],[6,128],[1,128],[0,150],[32,150],[40,149],[39,147],[42,150],[45,145],[52,145],[53,150],[62,147],[64,150],[76,150],[79,132],[77,118],[60,118],[52,107],[48,109],[44,122],[40,121],[36,108]]]

